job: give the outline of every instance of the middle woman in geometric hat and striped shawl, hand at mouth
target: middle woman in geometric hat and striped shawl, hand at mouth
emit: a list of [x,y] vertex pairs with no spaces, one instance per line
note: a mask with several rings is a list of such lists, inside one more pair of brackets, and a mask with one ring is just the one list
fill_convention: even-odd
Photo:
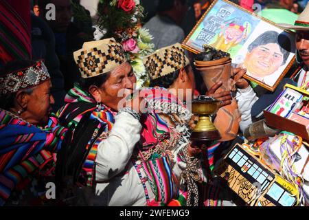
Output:
[[[126,99],[135,90],[136,77],[122,45],[114,39],[87,42],[74,52],[74,58],[82,78],[69,91],[67,104],[57,115],[64,126],[79,124],[87,113],[100,120],[93,134],[100,136],[89,141],[89,154],[78,178],[79,184],[93,190],[86,192],[87,204],[183,205],[177,154],[181,134],[155,111],[143,113],[143,108],[135,108],[134,102],[144,107],[143,98]],[[142,92],[150,98],[155,89]],[[166,90],[160,94],[162,102],[176,100]]]

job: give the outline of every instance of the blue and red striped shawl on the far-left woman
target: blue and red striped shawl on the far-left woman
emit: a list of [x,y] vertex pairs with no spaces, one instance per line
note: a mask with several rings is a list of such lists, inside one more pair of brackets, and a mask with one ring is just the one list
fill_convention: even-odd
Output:
[[0,205],[16,187],[25,187],[23,179],[53,159],[65,131],[54,115],[40,129],[0,109]]

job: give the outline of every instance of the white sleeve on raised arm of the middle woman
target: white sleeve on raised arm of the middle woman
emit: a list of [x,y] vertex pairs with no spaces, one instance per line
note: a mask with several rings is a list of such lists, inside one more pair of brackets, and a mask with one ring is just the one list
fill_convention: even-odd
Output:
[[115,116],[110,135],[98,145],[95,159],[96,181],[106,181],[124,170],[139,141],[141,124],[130,113]]

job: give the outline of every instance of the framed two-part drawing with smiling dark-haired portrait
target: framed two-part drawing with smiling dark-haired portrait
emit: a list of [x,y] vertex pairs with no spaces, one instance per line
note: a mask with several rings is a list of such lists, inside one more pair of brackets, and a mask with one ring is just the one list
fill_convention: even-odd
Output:
[[227,0],[215,0],[182,46],[198,54],[207,44],[231,55],[244,78],[274,91],[295,61],[295,34]]

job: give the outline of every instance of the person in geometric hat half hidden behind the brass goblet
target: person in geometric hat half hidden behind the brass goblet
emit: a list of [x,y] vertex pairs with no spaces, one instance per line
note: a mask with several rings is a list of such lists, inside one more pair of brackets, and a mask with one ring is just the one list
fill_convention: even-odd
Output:
[[[158,64],[158,61],[161,62]],[[178,153],[183,155],[179,157],[181,159],[179,164],[183,170],[181,177],[186,182],[187,197],[192,198],[187,199],[187,206],[231,206],[233,203],[230,201],[220,199],[223,192],[227,193],[225,192],[226,187],[220,186],[218,181],[211,181],[213,179],[211,178],[211,170],[214,169],[216,163],[214,161],[214,152],[217,149],[221,150],[229,147],[230,143],[214,141],[211,146],[207,146],[207,150],[188,147],[196,144],[194,142],[190,143],[190,135],[197,122],[194,120],[197,120],[197,118],[182,109],[186,108],[184,102],[191,103],[195,80],[193,69],[187,56],[185,56],[184,50],[181,48],[181,44],[176,43],[163,47],[144,57],[143,62],[150,77],[150,87],[157,87],[157,89],[163,87],[167,92],[169,91],[176,96],[174,103],[163,103],[158,100],[158,96],[151,98],[150,103],[153,103],[156,109],[163,111],[165,113],[164,120],[181,133],[181,139],[178,142],[179,145],[184,146],[179,148]],[[240,72],[240,74],[244,74],[244,72]],[[215,94],[216,89],[221,85],[222,82],[216,83],[207,91],[207,96],[213,96],[220,100],[220,107],[223,107],[231,104],[231,95],[229,91]],[[188,149],[187,154],[185,149]],[[190,153],[190,151],[194,151],[194,153]],[[188,158],[190,154],[195,156]]]

